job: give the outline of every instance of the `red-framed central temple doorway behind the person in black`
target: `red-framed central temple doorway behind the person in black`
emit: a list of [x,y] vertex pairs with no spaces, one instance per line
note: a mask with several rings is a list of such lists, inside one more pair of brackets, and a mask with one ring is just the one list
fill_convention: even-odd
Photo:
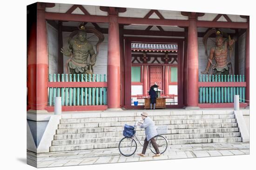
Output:
[[124,37],[124,43],[124,107],[146,108],[156,84],[159,108],[182,108],[183,39]]

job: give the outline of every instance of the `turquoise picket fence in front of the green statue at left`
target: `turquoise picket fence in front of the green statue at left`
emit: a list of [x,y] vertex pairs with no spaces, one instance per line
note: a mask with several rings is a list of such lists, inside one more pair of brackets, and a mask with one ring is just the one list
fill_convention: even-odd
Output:
[[[49,74],[49,82],[106,82],[106,75]],[[62,106],[107,105],[107,88],[48,88],[48,106],[61,97]]]

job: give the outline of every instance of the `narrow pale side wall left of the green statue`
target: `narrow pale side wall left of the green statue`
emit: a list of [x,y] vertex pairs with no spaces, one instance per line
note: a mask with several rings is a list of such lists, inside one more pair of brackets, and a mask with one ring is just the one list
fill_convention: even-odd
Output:
[[49,74],[58,73],[58,31],[47,24]]

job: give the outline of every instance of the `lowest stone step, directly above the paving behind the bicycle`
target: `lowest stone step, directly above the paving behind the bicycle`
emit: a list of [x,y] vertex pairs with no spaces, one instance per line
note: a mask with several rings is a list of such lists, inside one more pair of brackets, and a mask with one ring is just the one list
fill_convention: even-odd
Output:
[[[198,144],[198,143],[230,143],[230,142],[231,143],[242,142],[242,138],[237,137],[237,138],[178,139],[178,140],[174,139],[174,140],[168,140],[168,145]],[[50,146],[50,152],[117,148],[118,144],[119,144],[119,142],[99,143],[99,144],[83,144],[83,145]]]

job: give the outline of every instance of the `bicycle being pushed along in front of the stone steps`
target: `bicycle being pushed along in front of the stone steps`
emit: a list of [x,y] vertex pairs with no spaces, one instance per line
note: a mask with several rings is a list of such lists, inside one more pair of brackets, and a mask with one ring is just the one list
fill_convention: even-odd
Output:
[[[137,125],[137,122],[135,122],[134,130],[136,130],[136,125]],[[160,151],[160,154],[164,153],[168,147],[167,139],[160,134],[156,135],[154,138],[155,138],[155,142],[158,146],[158,149]],[[124,137],[123,139],[121,139],[121,141],[119,142],[119,145],[118,145],[118,149],[119,149],[120,153],[126,157],[132,156],[137,150],[137,141],[136,140],[139,142],[139,144],[141,146],[143,146],[141,141],[136,136],[136,132],[133,137]],[[148,148],[154,154],[156,154],[154,147],[153,146],[151,147],[151,141],[149,141]]]

